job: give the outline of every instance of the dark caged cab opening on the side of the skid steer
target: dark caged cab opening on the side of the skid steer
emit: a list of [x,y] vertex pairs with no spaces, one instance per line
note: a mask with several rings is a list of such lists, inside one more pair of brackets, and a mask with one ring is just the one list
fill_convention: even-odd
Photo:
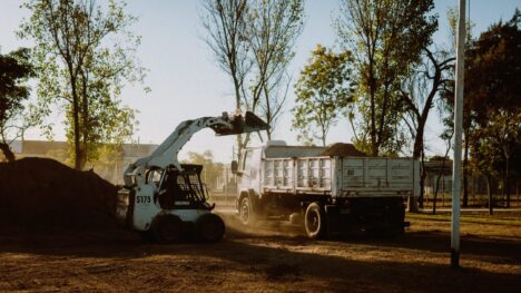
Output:
[[206,193],[200,182],[200,169],[167,169],[158,194],[161,208],[194,208],[205,203]]

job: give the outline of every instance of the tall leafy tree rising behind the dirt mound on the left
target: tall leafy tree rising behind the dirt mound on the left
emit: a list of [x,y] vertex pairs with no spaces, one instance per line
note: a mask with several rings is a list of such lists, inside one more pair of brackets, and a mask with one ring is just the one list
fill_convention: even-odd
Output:
[[81,169],[101,143],[132,134],[135,111],[121,106],[118,96],[126,81],[145,76],[134,57],[140,38],[129,31],[137,19],[118,0],[106,7],[95,0],[29,0],[24,7],[31,17],[19,35],[36,41],[40,109],[65,109],[75,168]]

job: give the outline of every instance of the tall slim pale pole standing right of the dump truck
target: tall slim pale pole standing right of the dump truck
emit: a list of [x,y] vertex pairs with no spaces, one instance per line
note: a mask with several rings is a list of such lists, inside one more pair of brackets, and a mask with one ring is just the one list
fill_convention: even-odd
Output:
[[456,77],[454,97],[454,165],[452,170],[451,266],[460,267],[460,191],[461,135],[463,126],[463,72],[465,58],[465,1],[460,0],[456,40]]

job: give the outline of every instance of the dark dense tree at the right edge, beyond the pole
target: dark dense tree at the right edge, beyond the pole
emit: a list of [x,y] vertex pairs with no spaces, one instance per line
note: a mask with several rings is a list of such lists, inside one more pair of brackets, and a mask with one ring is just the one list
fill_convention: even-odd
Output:
[[[465,71],[465,101],[474,134],[470,137],[475,165],[499,174],[510,204],[511,159],[520,152],[521,12],[499,21],[471,46]],[[485,167],[483,167],[485,166]]]

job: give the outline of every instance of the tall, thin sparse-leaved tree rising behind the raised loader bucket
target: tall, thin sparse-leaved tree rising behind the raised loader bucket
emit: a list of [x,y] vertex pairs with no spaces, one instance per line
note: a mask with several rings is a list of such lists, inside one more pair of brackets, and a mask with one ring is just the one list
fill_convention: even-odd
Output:
[[[286,101],[294,45],[304,26],[303,0],[205,0],[203,25],[218,66],[233,81],[237,110],[269,124],[268,139]],[[237,136],[240,153],[249,135]]]

